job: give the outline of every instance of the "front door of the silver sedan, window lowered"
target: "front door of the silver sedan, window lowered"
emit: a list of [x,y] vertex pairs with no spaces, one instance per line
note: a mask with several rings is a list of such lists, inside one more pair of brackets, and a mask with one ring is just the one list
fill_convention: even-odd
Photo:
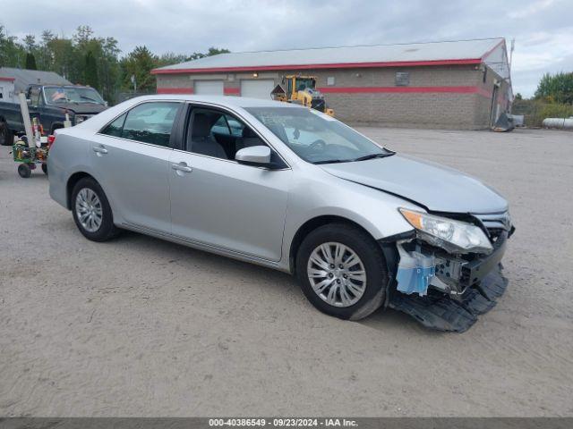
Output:
[[[244,147],[240,136],[252,134],[237,133],[229,126],[223,141],[221,123],[234,123],[234,128],[240,123],[244,127],[231,115],[193,108],[185,133],[187,150],[171,154],[173,234],[203,245],[278,261],[292,171],[286,164],[276,170],[238,164],[234,147]],[[262,140],[260,144],[265,145]],[[259,143],[250,137],[249,145]]]

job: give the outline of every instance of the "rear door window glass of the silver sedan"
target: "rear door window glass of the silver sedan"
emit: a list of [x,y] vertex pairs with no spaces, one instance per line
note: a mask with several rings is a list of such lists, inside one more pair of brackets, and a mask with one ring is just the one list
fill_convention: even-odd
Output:
[[179,105],[170,102],[137,105],[107,125],[102,134],[168,147]]

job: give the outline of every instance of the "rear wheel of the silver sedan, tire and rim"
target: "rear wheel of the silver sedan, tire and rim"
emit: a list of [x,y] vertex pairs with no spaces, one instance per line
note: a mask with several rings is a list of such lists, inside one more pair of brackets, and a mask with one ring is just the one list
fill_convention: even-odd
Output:
[[104,190],[91,178],[83,178],[73,187],[72,213],[73,221],[88,240],[107,241],[119,233]]

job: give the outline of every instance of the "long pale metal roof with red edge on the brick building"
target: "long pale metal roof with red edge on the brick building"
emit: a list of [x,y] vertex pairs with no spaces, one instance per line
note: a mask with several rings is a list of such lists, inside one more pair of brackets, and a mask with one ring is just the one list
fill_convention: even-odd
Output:
[[402,45],[343,46],[283,51],[237,52],[207,56],[198,60],[167,65],[153,74],[258,71],[284,69],[331,69],[349,67],[396,67],[482,63],[503,38]]

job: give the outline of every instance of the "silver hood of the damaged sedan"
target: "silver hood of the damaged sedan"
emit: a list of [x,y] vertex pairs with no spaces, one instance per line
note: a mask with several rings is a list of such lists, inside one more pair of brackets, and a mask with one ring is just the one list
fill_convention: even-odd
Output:
[[449,167],[411,156],[321,164],[330,174],[409,199],[432,212],[496,213],[508,202],[481,181]]

